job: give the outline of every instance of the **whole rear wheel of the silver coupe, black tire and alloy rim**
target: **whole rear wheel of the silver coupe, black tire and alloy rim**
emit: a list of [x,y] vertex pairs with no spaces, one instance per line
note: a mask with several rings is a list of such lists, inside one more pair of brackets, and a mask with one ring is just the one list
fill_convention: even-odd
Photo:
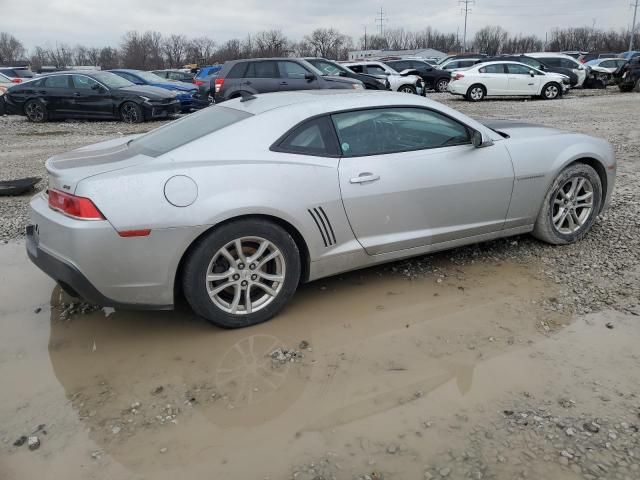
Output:
[[222,328],[272,318],[300,280],[300,252],[282,227],[261,219],[222,225],[195,245],[182,277],[193,311]]

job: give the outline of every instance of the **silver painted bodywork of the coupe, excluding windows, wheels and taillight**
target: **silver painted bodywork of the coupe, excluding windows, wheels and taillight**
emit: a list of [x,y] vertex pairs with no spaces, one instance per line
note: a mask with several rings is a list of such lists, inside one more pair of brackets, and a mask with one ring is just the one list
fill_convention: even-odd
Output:
[[[481,132],[488,146],[355,158],[270,150],[309,117],[384,105],[442,112]],[[50,188],[90,198],[107,220],[66,217],[48,207],[44,194],[36,195],[31,216],[40,248],[78,268],[113,300],[169,308],[189,246],[230,219],[262,215],[295,228],[309,253],[308,281],[529,232],[556,175],[581,158],[606,169],[605,207],[613,190],[614,152],[605,140],[507,122],[498,125],[510,136],[504,138],[416,95],[286,92],[231,100],[224,107],[254,116],[156,158],[127,155],[132,137],[126,137],[49,159]],[[351,183],[363,172],[380,178]],[[187,194],[176,190],[181,185]],[[187,206],[176,206],[181,204]],[[335,236],[327,246],[309,213],[320,207]],[[152,232],[131,238],[117,233],[135,229]]]

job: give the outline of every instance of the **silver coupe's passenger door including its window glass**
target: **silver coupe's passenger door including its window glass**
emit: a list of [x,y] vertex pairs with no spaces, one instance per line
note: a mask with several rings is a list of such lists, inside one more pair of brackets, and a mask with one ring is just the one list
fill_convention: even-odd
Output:
[[513,167],[500,143],[471,144],[468,127],[435,110],[337,113],[343,204],[368,254],[500,231]]

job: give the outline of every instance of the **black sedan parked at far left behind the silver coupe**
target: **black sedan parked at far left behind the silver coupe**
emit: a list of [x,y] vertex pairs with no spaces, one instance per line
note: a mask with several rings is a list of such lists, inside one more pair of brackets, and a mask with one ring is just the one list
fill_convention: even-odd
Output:
[[11,87],[7,113],[32,122],[54,118],[121,119],[139,123],[180,110],[175,93],[135,85],[109,72],[56,72]]

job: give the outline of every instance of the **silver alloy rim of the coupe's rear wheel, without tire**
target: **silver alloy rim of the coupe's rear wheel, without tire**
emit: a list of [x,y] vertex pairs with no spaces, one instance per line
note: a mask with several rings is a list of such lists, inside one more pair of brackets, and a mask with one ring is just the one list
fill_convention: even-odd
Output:
[[216,252],[206,287],[221,310],[247,315],[269,305],[284,285],[286,264],[280,249],[262,237],[241,237]]

